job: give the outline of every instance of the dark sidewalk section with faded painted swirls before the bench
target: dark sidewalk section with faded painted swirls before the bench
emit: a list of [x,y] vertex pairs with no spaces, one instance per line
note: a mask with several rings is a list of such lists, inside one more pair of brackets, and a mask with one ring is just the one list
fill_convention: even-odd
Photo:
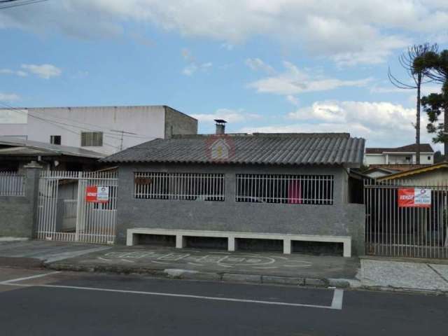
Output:
[[[114,246],[77,258],[50,262],[58,270],[150,273],[184,279],[330,286],[330,279],[355,279],[358,258],[267,252],[227,252],[157,246]],[[339,286],[349,286],[348,282]]]

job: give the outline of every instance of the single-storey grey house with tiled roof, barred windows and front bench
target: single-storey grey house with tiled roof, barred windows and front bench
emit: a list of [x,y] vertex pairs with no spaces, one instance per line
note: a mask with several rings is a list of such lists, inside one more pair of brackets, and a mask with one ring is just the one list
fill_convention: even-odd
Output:
[[119,169],[118,243],[207,237],[234,251],[283,241],[285,253],[344,243],[344,255],[362,254],[364,208],[349,203],[349,169],[364,144],[336,133],[196,134],[128,148],[102,159]]

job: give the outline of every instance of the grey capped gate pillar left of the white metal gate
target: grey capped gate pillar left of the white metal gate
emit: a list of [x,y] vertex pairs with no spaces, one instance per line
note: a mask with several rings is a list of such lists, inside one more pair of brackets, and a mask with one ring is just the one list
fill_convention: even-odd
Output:
[[30,238],[34,238],[37,230],[37,204],[39,194],[39,176],[41,174],[42,166],[36,161],[29,162],[25,167],[26,185],[25,196],[29,200],[30,211]]

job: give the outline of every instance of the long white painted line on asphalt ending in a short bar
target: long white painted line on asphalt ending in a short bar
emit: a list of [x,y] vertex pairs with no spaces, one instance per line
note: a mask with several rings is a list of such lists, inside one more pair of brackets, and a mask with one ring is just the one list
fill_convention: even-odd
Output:
[[[59,273],[59,272],[53,272]],[[45,275],[49,275],[48,273]],[[26,279],[26,278],[24,278]],[[127,293],[127,294],[141,294],[141,295],[153,295],[153,296],[168,296],[168,297],[186,297],[190,299],[199,300],[212,300],[212,301],[226,301],[226,302],[244,302],[244,303],[255,303],[255,304],[268,304],[274,306],[288,306],[288,307],[309,307],[309,308],[320,308],[320,309],[342,309],[342,294],[343,290],[335,289],[335,294],[333,295],[333,302],[331,306],[321,306],[318,304],[302,304],[302,303],[291,303],[291,302],[276,302],[276,301],[264,301],[264,300],[249,300],[249,299],[235,299],[232,297],[214,297],[214,296],[203,296],[203,295],[190,295],[190,294],[175,294],[175,293],[158,293],[158,292],[143,292],[140,290],[123,290],[123,289],[110,289],[110,288],[95,288],[95,287],[80,287],[80,286],[63,286],[63,285],[27,285],[25,283],[0,283],[6,286],[18,286],[18,287],[43,287],[43,288],[62,288],[62,289],[77,289],[77,290],[93,290],[99,292],[112,292],[112,293]],[[337,292],[339,291],[339,292]],[[338,294],[337,294],[338,293]],[[335,303],[335,297],[339,297]]]

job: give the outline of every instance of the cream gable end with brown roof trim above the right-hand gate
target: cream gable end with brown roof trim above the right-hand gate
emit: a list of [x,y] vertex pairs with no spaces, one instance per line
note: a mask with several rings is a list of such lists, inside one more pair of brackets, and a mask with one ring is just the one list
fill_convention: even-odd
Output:
[[441,162],[435,165],[419,167],[407,170],[406,172],[396,172],[388,176],[383,176],[378,181],[402,180],[403,185],[411,186],[447,186],[448,184],[448,162]]

